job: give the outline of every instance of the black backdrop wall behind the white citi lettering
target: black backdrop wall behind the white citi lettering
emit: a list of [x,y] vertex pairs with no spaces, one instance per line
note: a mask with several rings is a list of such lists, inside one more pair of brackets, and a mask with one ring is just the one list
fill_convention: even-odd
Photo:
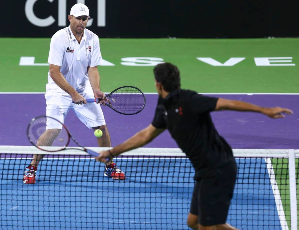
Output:
[[[26,1],[2,0],[1,37],[51,37],[58,26],[58,3],[66,2],[65,19],[76,0],[37,0],[36,17],[53,16],[55,22],[39,27],[25,15]],[[52,1],[52,2],[50,2]],[[221,0],[106,0],[106,25],[97,26],[97,1],[86,0],[90,16],[88,27],[100,37],[184,37],[241,38],[299,36],[298,10],[288,1]],[[101,0],[102,2],[104,0]],[[105,1],[104,1],[105,2]]]

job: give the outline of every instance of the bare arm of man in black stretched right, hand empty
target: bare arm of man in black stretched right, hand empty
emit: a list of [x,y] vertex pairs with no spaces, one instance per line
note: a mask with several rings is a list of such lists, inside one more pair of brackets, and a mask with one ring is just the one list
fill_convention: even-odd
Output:
[[292,110],[286,108],[280,108],[280,107],[267,108],[267,107],[261,107],[243,101],[227,100],[223,98],[219,98],[217,100],[215,111],[219,111],[219,110],[259,112],[271,118],[284,118],[284,115],[282,113],[293,114]]

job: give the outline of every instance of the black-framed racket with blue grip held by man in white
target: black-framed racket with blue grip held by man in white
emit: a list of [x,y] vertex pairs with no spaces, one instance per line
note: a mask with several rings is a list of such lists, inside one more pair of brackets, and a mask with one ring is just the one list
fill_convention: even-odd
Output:
[[[143,92],[135,86],[122,86],[106,95],[108,103],[103,104],[109,106],[114,111],[124,114],[133,115],[141,112],[145,106],[145,96]],[[87,102],[97,102],[103,98],[89,98]]]

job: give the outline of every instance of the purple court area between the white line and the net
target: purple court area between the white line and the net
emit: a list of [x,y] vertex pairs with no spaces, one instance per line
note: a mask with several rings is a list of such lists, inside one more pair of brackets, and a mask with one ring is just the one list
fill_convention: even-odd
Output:
[[[243,149],[299,149],[299,95],[208,95],[254,103],[267,107],[286,107],[294,115],[284,119],[271,119],[253,112],[212,112],[213,122],[233,148]],[[146,105],[136,115],[121,115],[109,107],[103,107],[112,146],[120,144],[135,132],[147,127],[152,121],[157,94],[146,95]],[[45,115],[46,104],[43,94],[0,94],[0,145],[30,145],[26,137],[29,121]],[[65,121],[74,138],[82,145],[97,146],[92,130],[85,127],[70,110]],[[177,147],[168,131],[163,132],[144,147]]]

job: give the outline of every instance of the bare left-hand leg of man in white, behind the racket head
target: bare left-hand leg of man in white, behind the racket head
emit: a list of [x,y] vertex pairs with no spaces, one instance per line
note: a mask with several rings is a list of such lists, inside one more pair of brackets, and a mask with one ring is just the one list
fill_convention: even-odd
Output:
[[[36,146],[51,146],[53,141],[57,138],[60,133],[60,129],[49,129],[46,130],[38,139]],[[37,167],[39,162],[43,159],[44,154],[33,155],[31,165]]]

